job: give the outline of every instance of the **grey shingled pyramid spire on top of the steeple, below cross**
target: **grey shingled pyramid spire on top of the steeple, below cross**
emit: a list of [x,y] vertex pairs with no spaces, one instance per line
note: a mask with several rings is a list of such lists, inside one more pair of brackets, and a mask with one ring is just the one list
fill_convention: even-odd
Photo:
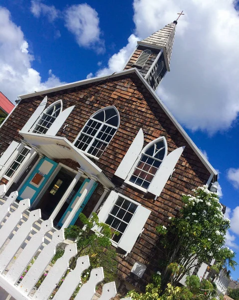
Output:
[[151,45],[152,47],[155,45],[156,47],[162,48],[168,71],[170,71],[169,66],[173,50],[176,24],[177,21],[174,21],[138,42],[139,45]]

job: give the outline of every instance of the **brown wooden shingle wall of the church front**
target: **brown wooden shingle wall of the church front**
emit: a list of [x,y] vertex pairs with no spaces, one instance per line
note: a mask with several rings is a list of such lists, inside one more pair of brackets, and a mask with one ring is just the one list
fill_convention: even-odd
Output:
[[[0,128],[1,152],[12,139],[20,140],[18,131],[41,99],[42,97],[35,96],[22,100]],[[158,270],[158,260],[161,255],[158,245],[159,236],[155,232],[155,227],[159,223],[167,224],[169,216],[177,215],[182,205],[180,200],[182,193],[190,193],[191,189],[206,184],[210,173],[135,73],[49,93],[47,105],[58,99],[62,99],[63,109],[75,105],[58,132],[58,135],[66,137],[71,142],[75,140],[85,122],[95,111],[109,105],[116,106],[120,114],[119,129],[100,159],[95,161],[112,180],[117,179],[114,178],[114,172],[140,128],[144,131],[145,145],[163,135],[168,143],[168,152],[186,146],[171,179],[157,199],[154,199],[153,195],[116,180],[117,191],[152,211],[143,234],[131,253],[126,257],[125,253],[120,251],[118,254],[119,275],[138,287],[144,285],[149,281],[151,273]],[[63,130],[65,124],[68,126]],[[70,163],[72,167],[72,161]],[[136,261],[148,266],[142,279],[130,273]]]

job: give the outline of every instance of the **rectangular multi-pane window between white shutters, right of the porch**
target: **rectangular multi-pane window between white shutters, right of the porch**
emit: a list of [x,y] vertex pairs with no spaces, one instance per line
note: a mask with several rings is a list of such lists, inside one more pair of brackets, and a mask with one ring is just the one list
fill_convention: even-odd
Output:
[[137,207],[137,204],[123,196],[118,197],[105,221],[111,227],[112,240],[119,242]]

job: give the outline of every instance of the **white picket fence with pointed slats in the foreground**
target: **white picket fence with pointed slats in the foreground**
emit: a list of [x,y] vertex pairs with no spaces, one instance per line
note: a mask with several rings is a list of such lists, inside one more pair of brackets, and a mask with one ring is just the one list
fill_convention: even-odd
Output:
[[[4,195],[4,192],[5,186],[0,185],[0,197]],[[64,231],[62,229],[54,231],[52,240],[38,252],[42,247],[45,234],[53,228],[52,219],[45,220],[41,223],[40,230],[33,234],[24,249],[21,249],[23,242],[30,236],[33,223],[40,219],[41,212],[40,209],[31,211],[28,219],[19,226],[22,214],[30,207],[30,200],[21,200],[17,209],[9,213],[10,206],[16,197],[17,191],[14,191],[0,206],[0,287],[16,300],[46,300],[48,298],[68,300],[76,288],[81,286],[75,300],[91,300],[95,295],[95,286],[104,279],[104,272],[102,267],[92,269],[89,280],[81,285],[81,273],[90,266],[88,255],[77,259],[75,268],[64,277],[56,293],[53,293],[68,269],[69,259],[77,253],[75,243],[66,245],[64,254],[56,260],[36,289],[35,285],[49,266],[56,246],[64,241]],[[15,234],[9,240],[8,237],[15,230]],[[25,272],[37,252],[39,253],[37,258]],[[24,272],[25,275],[22,276]],[[103,285],[99,300],[109,300],[116,295],[116,292],[115,282],[106,283]],[[0,294],[0,299],[2,298]],[[131,298],[121,300],[131,300]]]

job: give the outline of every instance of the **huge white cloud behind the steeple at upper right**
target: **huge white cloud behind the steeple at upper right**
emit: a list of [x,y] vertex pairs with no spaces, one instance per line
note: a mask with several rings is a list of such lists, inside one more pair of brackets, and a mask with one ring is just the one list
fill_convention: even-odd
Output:
[[[173,21],[182,7],[171,72],[157,92],[187,128],[210,134],[226,130],[239,112],[239,15],[234,0],[134,0],[134,33],[141,39],[149,36]],[[99,74],[122,68],[131,53],[119,63],[121,50]]]

